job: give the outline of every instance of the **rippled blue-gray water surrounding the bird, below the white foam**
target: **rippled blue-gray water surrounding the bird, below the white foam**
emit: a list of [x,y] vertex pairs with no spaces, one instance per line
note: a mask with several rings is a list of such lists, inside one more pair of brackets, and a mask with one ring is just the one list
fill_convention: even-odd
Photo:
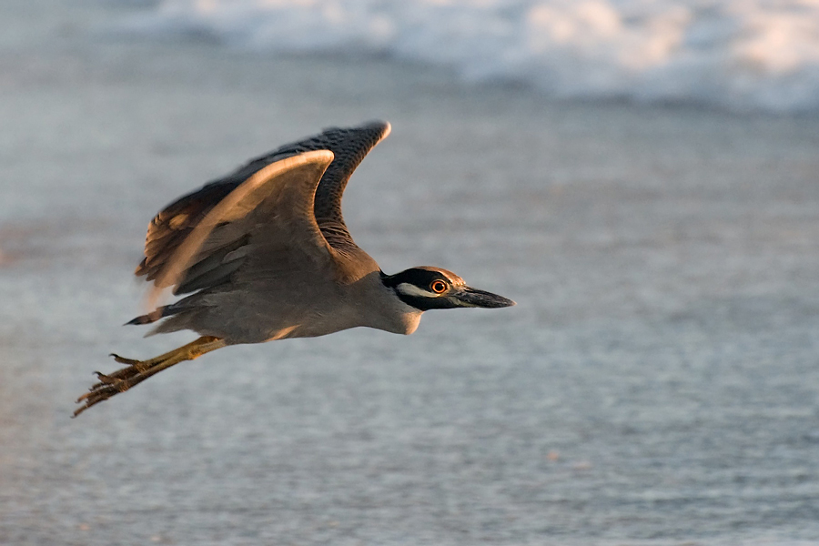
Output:
[[[0,7],[0,543],[819,542],[819,120],[544,102],[388,60],[126,41],[139,5]],[[389,272],[519,302],[149,357],[157,209],[386,118],[345,198]]]

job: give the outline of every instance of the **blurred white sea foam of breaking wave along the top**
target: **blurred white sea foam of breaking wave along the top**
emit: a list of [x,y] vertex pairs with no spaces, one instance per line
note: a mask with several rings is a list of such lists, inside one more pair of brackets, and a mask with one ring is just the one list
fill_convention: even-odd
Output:
[[166,0],[134,27],[385,53],[561,97],[819,110],[819,0]]

